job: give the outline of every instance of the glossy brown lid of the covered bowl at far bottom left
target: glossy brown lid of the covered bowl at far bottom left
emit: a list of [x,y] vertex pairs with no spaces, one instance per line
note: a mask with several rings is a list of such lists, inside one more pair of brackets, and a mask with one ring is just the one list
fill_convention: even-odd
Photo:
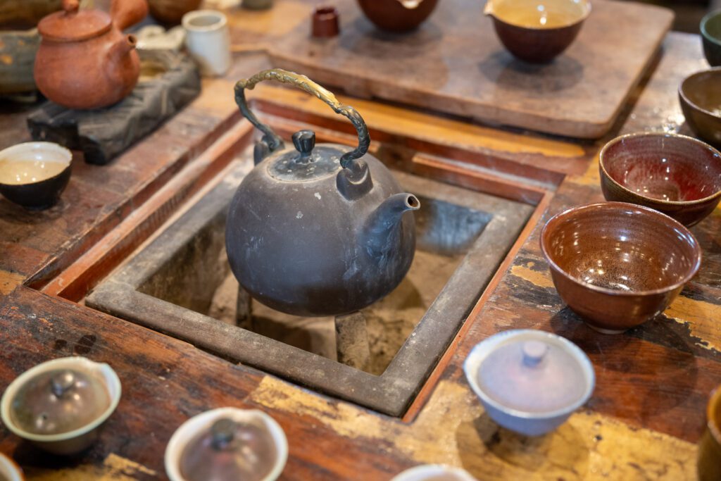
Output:
[[96,377],[54,369],[37,374],[18,389],[10,417],[28,433],[61,434],[92,423],[109,405],[110,393]]

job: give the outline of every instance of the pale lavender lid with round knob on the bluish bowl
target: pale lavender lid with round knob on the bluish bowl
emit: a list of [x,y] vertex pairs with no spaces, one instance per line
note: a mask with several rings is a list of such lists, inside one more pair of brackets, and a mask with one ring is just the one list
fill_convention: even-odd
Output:
[[477,371],[479,387],[495,402],[523,412],[553,412],[588,390],[578,353],[561,343],[521,335],[501,343]]

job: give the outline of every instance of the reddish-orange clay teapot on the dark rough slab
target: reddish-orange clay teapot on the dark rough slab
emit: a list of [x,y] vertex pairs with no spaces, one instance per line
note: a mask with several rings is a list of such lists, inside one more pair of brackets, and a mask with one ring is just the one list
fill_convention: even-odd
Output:
[[35,57],[35,82],[45,97],[64,107],[107,107],[130,94],[140,75],[132,35],[123,30],[148,13],[146,0],[113,0],[110,15],[79,10],[63,0],[63,11],[40,20],[43,37]]

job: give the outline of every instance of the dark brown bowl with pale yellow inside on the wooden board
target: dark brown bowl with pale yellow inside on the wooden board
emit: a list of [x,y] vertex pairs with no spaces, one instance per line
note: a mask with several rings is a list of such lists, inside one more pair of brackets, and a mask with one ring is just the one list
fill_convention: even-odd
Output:
[[501,43],[530,63],[547,63],[568,48],[588,15],[588,0],[487,0]]

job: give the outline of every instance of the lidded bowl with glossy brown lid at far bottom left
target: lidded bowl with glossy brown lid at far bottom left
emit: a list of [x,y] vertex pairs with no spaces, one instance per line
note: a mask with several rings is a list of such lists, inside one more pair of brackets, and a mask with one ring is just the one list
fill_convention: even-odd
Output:
[[0,413],[17,436],[54,454],[75,454],[95,441],[119,401],[120,379],[110,366],[59,358],[12,381]]

